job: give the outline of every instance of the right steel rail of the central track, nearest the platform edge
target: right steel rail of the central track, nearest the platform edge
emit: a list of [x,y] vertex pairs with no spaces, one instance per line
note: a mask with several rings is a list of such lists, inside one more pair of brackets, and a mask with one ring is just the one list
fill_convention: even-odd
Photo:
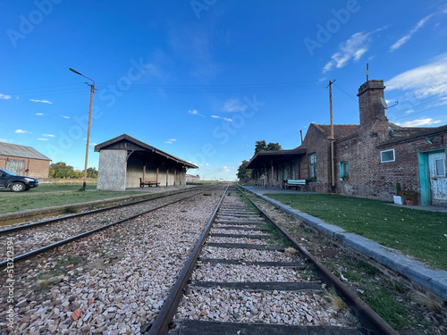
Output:
[[316,267],[316,272],[320,274],[320,277],[326,284],[333,286],[334,289],[342,296],[343,301],[346,305],[350,306],[351,311],[356,315],[358,320],[363,323],[364,327],[371,331],[373,334],[377,335],[399,335],[397,331],[392,329],[387,322],[382,319],[378,314],[367,306],[367,304],[360,299],[355,293],[353,293],[348,286],[346,286],[338,277],[336,277],[333,272],[330,272],[324,264],[320,263],[316,257],[308,252],[305,247],[302,247],[299,242],[291,237],[291,235],[283,230],[274,220],[266,214],[253,200],[251,200],[246,193],[238,187],[240,192],[245,195],[249,201],[257,208],[257,210],[262,214],[267,222],[274,224],[276,229],[278,229],[284,237],[290,239],[299,252],[304,255],[308,261]]

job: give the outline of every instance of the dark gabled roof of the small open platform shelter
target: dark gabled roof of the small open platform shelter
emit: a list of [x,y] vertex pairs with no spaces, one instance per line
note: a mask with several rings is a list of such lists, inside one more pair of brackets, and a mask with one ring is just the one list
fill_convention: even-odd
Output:
[[127,134],[122,134],[95,146],[95,152],[100,152],[101,150],[127,150],[134,157],[150,160],[154,163],[172,161],[189,169],[198,169],[196,164],[186,162],[179,157],[165,153],[163,150],[149,146],[147,143],[141,142],[137,138],[132,138]]

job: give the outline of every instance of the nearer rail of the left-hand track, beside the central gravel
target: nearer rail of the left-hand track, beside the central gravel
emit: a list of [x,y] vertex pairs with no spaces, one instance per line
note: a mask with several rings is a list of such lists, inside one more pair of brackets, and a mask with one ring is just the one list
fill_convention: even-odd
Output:
[[[208,188],[208,189],[209,189],[209,188]],[[114,226],[114,225],[116,225],[116,224],[119,224],[119,223],[122,223],[122,222],[126,222],[126,221],[129,221],[129,220],[132,220],[132,219],[135,219],[136,217],[138,217],[138,216],[140,216],[140,215],[148,214],[148,213],[150,213],[150,212],[154,212],[154,211],[156,211],[156,210],[158,210],[158,209],[160,209],[160,208],[166,207],[166,206],[168,206],[168,205],[173,205],[173,204],[175,204],[175,203],[178,203],[178,202],[180,202],[180,201],[182,201],[182,200],[185,200],[185,199],[188,199],[188,198],[190,198],[190,197],[195,197],[195,196],[197,196],[198,194],[200,194],[201,192],[202,192],[202,191],[197,192],[197,193],[195,193],[195,194],[193,194],[193,195],[191,195],[191,196],[188,196],[188,197],[182,197],[181,199],[174,200],[173,202],[168,203],[168,204],[159,205],[159,206],[157,206],[156,208],[149,209],[148,211],[145,211],[145,212],[142,212],[142,213],[139,213],[139,214],[131,215],[131,216],[129,216],[129,217],[125,218],[125,219],[119,220],[119,221],[117,221],[117,222],[108,223],[108,224],[106,224],[105,226],[98,227],[98,228],[96,228],[96,229],[94,229],[94,230],[85,231],[85,232],[83,232],[83,233],[80,233],[79,235],[73,236],[73,237],[68,238],[68,239],[63,239],[63,240],[61,240],[61,241],[55,242],[55,243],[53,243],[53,244],[50,244],[50,245],[48,245],[48,246],[46,246],[46,247],[40,247],[40,248],[35,249],[35,250],[32,250],[32,251],[30,251],[30,252],[28,252],[28,253],[26,253],[26,254],[22,254],[22,255],[14,256],[13,259],[6,259],[5,261],[0,262],[0,270],[4,270],[4,268],[7,267],[8,263],[11,263],[12,261],[14,262],[14,264],[19,263],[19,262],[22,262],[22,261],[24,261],[24,260],[26,260],[26,259],[29,259],[30,257],[32,257],[32,256],[34,256],[34,255],[39,255],[39,254],[42,254],[43,252],[45,252],[45,251],[47,251],[47,250],[54,249],[55,247],[61,247],[61,246],[65,245],[65,244],[67,244],[67,243],[70,243],[70,242],[74,241],[74,240],[82,239],[82,238],[84,238],[84,237],[86,237],[86,236],[89,236],[89,235],[91,235],[91,234],[96,233],[97,231],[105,230],[105,229],[110,228],[110,227],[112,227],[112,226]]]

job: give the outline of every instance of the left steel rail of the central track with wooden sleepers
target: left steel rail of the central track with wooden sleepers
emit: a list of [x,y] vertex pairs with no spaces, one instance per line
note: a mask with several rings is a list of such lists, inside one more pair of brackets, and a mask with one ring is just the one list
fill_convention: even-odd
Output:
[[167,334],[167,332],[171,328],[173,322],[173,316],[177,311],[177,307],[180,304],[181,297],[183,297],[183,292],[185,291],[186,286],[188,285],[188,281],[190,281],[190,276],[194,271],[198,261],[198,255],[200,255],[200,251],[202,250],[202,247],[205,244],[205,241],[209,234],[209,230],[211,230],[211,226],[215,221],[215,215],[217,214],[220,206],[222,205],[223,197],[225,197],[228,188],[229,188],[228,186],[225,188],[223,196],[221,197],[219,203],[215,207],[215,211],[211,215],[211,218],[209,219],[205,230],[198,238],[198,243],[196,244],[196,247],[194,247],[194,249],[192,250],[190,257],[188,258],[188,261],[183,267],[183,270],[181,270],[179,278],[177,279],[177,281],[175,281],[171,293],[169,294],[168,297],[166,297],[162,309],[160,310],[160,312],[156,316],[156,319],[152,323],[148,331],[148,335]]

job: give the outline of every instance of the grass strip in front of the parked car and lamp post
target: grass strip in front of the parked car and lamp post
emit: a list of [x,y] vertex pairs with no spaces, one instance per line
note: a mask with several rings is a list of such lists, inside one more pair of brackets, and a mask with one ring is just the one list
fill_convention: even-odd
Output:
[[31,188],[27,192],[18,193],[2,190],[0,191],[0,214],[143,194],[140,191],[89,191],[89,189],[96,189],[96,184],[87,184],[86,192],[79,191],[80,188],[82,188],[82,183],[41,184],[38,188]]

